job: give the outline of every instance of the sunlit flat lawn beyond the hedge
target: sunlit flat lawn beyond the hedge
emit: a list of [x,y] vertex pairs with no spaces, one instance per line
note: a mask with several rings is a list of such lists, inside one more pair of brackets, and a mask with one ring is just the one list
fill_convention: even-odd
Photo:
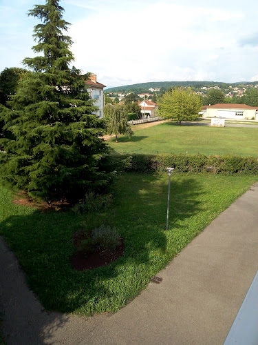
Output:
[[208,126],[178,126],[165,123],[134,135],[107,141],[120,153],[204,153],[205,155],[235,154],[258,157],[258,128],[215,128]]

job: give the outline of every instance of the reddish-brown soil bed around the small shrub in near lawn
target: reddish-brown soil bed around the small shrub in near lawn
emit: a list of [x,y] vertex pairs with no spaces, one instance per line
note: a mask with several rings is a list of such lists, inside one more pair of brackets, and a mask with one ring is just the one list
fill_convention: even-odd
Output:
[[[75,233],[73,243],[78,248],[79,244],[85,239],[85,233]],[[125,251],[125,245],[122,238],[120,238],[120,245],[114,250],[110,249],[98,249],[88,255],[83,251],[77,251],[77,253],[71,257],[71,264],[75,270],[92,270],[100,266],[107,266],[114,262],[119,257],[122,257]]]

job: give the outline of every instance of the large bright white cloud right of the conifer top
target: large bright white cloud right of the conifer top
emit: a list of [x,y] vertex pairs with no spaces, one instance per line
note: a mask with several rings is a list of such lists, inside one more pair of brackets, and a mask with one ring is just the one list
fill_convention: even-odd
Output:
[[[138,10],[98,8],[69,34],[76,66],[96,72],[109,86],[118,80],[196,80],[215,75],[204,67],[215,67],[219,50],[234,46],[232,30],[242,19],[239,11],[159,1]],[[222,21],[231,30],[222,33]],[[202,22],[204,26],[195,28]]]

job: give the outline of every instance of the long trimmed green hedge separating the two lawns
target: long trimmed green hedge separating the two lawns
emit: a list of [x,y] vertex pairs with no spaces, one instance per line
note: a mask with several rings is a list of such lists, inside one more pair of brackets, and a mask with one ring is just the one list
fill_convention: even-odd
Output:
[[[119,159],[118,159],[119,156]],[[116,155],[116,160],[127,162],[125,170],[138,172],[165,171],[173,167],[178,172],[211,172],[213,174],[258,174],[258,158],[237,155],[206,156],[180,154]]]

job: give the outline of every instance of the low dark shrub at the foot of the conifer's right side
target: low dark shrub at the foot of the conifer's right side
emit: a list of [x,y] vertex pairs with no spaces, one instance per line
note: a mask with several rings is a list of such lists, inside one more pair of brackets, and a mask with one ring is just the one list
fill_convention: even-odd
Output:
[[110,206],[113,201],[113,196],[111,193],[99,195],[94,192],[89,192],[85,194],[85,198],[80,204],[74,206],[75,213],[89,213],[93,210],[101,210],[107,206]]

